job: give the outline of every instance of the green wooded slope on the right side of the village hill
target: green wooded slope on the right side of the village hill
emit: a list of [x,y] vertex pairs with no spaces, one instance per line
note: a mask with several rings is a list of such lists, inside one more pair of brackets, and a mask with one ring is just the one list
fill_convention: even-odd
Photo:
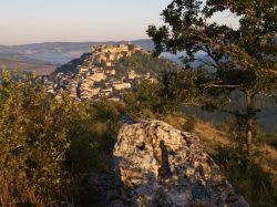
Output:
[[119,60],[115,64],[116,75],[124,76],[130,71],[138,74],[152,72],[160,74],[165,71],[176,71],[178,65],[163,58],[154,58],[147,53],[136,52],[131,56]]

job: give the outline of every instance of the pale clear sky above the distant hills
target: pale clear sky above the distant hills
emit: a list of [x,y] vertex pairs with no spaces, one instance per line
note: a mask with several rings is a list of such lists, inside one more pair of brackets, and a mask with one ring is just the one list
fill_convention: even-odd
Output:
[[[145,39],[171,0],[0,0],[0,44]],[[217,17],[225,21],[225,17]]]

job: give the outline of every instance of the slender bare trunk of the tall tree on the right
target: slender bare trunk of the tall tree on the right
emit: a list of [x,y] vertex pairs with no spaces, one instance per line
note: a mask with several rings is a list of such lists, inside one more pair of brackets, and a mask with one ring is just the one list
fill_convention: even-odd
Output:
[[246,91],[246,111],[247,111],[247,152],[250,155],[253,148],[253,123],[254,123],[254,108],[253,108],[253,95],[249,91]]

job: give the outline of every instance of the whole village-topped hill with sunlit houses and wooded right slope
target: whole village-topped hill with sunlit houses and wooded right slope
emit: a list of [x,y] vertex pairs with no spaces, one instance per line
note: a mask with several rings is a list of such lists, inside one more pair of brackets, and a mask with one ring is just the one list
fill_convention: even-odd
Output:
[[122,101],[123,94],[140,82],[157,82],[161,72],[177,69],[177,64],[164,58],[154,58],[140,45],[93,45],[91,52],[45,76],[44,84],[48,92],[57,97],[65,92],[82,101],[103,97]]

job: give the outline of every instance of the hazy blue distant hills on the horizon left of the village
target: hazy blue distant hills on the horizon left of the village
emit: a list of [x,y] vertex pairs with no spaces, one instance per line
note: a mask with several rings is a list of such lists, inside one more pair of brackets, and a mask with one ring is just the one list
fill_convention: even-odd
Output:
[[[119,42],[45,42],[23,45],[0,45],[0,68],[6,65],[10,70],[37,71],[38,74],[50,74],[59,65],[73,59],[79,59],[84,52],[89,52],[92,45],[126,43]],[[134,40],[134,44],[144,50],[152,50],[151,40]]]

